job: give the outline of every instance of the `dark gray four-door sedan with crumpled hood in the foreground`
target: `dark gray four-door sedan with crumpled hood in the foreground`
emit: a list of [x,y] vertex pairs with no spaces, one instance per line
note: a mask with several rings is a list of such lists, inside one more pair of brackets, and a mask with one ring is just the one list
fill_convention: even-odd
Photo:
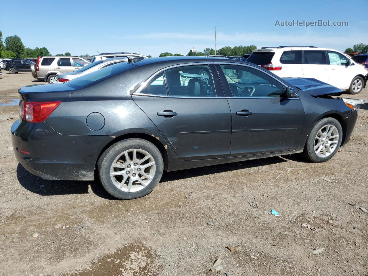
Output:
[[19,93],[18,162],[44,179],[97,175],[121,199],[148,194],[163,171],[301,152],[325,162],[357,120],[334,86],[209,57],[128,59]]

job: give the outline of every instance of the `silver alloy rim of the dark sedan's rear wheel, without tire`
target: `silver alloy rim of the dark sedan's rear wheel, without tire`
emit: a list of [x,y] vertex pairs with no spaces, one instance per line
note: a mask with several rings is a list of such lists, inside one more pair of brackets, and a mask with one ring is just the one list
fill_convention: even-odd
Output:
[[119,190],[137,192],[147,187],[156,173],[156,162],[143,149],[120,153],[110,167],[110,177]]

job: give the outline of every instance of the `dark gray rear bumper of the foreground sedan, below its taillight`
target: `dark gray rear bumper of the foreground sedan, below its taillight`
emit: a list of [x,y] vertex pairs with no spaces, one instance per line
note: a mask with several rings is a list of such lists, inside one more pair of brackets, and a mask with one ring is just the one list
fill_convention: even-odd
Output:
[[15,158],[30,173],[44,179],[93,180],[96,160],[112,139],[61,135],[45,122],[17,120],[11,127]]

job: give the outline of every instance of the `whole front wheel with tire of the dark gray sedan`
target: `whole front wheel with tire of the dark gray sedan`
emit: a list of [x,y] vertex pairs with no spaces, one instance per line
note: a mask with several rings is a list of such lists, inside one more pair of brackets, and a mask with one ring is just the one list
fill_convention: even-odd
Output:
[[317,121],[309,132],[304,146],[304,156],[313,163],[330,160],[339,150],[343,130],[335,118],[323,118]]

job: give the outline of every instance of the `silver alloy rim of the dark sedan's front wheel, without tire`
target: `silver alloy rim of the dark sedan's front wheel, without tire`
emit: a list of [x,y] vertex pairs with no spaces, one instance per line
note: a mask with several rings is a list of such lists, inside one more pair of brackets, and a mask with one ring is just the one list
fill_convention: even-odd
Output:
[[314,139],[314,151],[321,158],[328,157],[339,143],[339,131],[334,125],[324,125]]

